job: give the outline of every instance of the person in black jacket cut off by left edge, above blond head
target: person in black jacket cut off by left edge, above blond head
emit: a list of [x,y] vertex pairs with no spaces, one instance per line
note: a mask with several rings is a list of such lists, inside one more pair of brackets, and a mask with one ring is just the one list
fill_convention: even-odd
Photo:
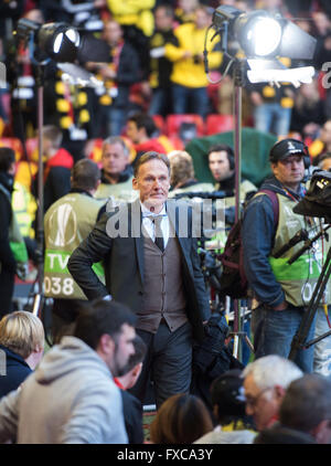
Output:
[[17,261],[10,247],[10,229],[13,211],[11,194],[14,177],[14,151],[7,147],[0,148],[0,318],[13,310],[12,295]]

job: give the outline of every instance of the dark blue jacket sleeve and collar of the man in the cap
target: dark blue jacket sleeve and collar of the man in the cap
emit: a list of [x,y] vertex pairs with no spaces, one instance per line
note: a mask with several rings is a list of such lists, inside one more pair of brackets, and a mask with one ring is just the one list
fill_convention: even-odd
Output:
[[[260,189],[275,191],[289,197],[282,184],[275,178],[267,178]],[[297,200],[305,195],[305,188],[299,192],[290,191]],[[244,268],[249,287],[256,298],[268,306],[278,306],[285,295],[281,286],[276,282],[269,264],[269,255],[277,225],[275,225],[273,203],[268,195],[257,195],[245,209],[243,222]]]

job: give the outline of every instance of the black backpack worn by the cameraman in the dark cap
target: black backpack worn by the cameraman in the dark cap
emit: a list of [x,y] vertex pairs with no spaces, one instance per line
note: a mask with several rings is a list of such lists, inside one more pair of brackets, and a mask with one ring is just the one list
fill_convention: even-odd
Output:
[[[260,190],[267,194],[273,202],[275,226],[278,224],[279,208],[276,192]],[[242,239],[243,219],[239,219],[231,229],[223,254],[220,260],[223,266],[221,275],[221,295],[234,299],[247,297],[248,283],[244,269],[244,253]]]

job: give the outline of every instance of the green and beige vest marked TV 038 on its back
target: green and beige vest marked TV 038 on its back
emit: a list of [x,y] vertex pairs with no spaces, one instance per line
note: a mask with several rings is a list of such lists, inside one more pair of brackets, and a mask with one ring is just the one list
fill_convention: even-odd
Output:
[[[68,272],[67,263],[73,251],[90,233],[104,203],[105,201],[84,193],[70,193],[52,204],[45,213],[45,296],[61,299],[86,299]],[[94,264],[93,269],[99,280],[105,283],[103,264]]]

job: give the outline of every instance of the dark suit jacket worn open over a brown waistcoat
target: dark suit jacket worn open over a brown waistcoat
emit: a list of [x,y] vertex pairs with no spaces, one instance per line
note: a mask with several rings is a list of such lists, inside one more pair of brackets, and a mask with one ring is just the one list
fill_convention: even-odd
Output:
[[[185,202],[170,200],[167,202],[167,213],[180,245],[188,318],[192,325],[193,337],[201,341],[202,321],[210,317],[210,305],[197,255],[196,239],[192,237],[192,211]],[[185,225],[183,226],[183,215],[186,215],[186,232]],[[114,299],[127,305],[134,313],[141,308],[143,295],[141,219],[139,200],[116,208],[113,212],[106,212],[87,239],[73,252],[68,261],[68,271],[88,299],[110,294]],[[102,260],[104,260],[106,286],[92,269],[92,265]]]

